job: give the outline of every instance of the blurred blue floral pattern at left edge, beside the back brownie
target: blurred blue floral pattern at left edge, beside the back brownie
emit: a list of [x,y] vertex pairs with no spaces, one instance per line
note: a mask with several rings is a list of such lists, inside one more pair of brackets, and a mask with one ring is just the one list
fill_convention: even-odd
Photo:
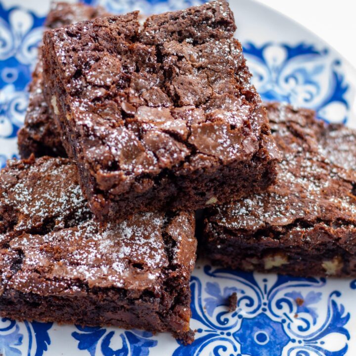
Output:
[[44,17],[0,1],[0,168],[17,155],[18,129],[23,125],[31,72],[42,39]]

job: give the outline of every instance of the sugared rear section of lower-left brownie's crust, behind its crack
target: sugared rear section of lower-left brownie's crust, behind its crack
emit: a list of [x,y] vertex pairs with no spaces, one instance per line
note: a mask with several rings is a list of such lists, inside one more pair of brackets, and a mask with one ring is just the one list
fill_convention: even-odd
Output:
[[14,212],[16,233],[63,228],[90,215],[67,160],[44,158],[26,169],[15,162],[0,179],[0,209]]

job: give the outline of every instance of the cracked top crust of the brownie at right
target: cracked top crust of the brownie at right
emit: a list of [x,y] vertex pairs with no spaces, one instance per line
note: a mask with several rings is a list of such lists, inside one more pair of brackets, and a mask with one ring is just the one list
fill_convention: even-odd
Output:
[[282,154],[276,184],[266,193],[217,207],[210,223],[246,239],[260,236],[271,247],[273,239],[286,245],[315,244],[308,231],[317,226],[333,241],[338,236],[338,244],[348,241],[347,249],[355,253],[350,228],[356,226],[356,174],[342,161],[324,156],[335,145],[320,137],[333,131],[315,120],[312,110],[272,103],[267,112]]

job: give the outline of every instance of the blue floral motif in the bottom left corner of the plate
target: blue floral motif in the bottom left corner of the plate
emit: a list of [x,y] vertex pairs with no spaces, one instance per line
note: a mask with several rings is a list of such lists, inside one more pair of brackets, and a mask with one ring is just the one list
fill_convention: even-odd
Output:
[[0,322],[0,355],[6,356],[43,356],[50,345],[48,330],[52,323],[18,323],[8,318]]

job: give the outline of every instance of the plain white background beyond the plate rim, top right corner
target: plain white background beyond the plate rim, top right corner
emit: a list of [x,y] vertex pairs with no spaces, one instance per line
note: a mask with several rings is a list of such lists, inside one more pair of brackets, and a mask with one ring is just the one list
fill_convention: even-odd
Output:
[[257,1],[307,27],[339,51],[356,68],[355,0]]

